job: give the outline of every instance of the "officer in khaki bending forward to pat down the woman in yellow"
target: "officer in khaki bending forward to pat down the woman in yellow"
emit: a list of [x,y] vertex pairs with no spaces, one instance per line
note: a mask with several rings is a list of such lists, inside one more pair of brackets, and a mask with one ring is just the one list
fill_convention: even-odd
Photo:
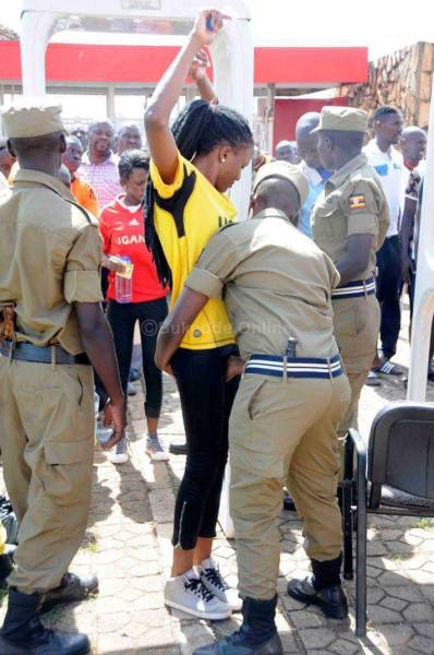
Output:
[[296,227],[306,195],[308,181],[297,167],[263,166],[254,182],[254,217],[213,237],[158,338],[157,365],[170,371],[182,332],[209,297],[224,293],[241,353],[228,377],[243,371],[229,428],[243,623],[196,655],[282,653],[275,626],[276,520],[287,479],[314,572],[292,581],[288,591],[327,616],[342,618],[348,611],[339,575],[336,429],[349,385],[333,334],[330,299],[339,275]]

